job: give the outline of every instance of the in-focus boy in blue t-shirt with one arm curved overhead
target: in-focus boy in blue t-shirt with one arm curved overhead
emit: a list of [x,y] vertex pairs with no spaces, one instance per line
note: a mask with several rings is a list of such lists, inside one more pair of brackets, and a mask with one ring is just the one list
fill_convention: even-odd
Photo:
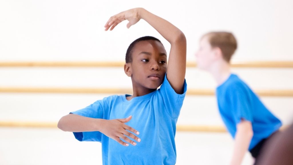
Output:
[[176,163],[176,122],[187,88],[186,38],[174,25],[142,8],[112,16],[105,30],[124,20],[129,28],[140,19],[171,44],[168,65],[166,50],[157,38],[138,38],[127,49],[124,66],[133,95],[105,97],[58,123],[79,141],[101,142],[104,165]]

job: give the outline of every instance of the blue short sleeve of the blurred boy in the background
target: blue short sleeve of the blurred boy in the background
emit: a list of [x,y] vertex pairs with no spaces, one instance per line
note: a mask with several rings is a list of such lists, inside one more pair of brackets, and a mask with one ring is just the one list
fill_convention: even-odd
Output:
[[245,119],[253,122],[252,99],[245,87],[241,84],[235,84],[233,87],[230,87],[228,91],[234,121],[239,123],[241,119]]

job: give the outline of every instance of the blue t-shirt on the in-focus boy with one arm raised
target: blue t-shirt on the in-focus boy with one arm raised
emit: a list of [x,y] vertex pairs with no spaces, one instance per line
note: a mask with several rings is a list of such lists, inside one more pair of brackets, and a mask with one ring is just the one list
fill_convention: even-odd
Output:
[[132,115],[125,123],[139,131],[141,139],[136,146],[122,146],[101,132],[74,132],[79,141],[97,141],[102,143],[104,165],[117,164],[175,164],[176,122],[187,90],[177,94],[166,76],[160,89],[147,95],[127,100],[129,95],[113,95],[98,100],[88,107],[71,112],[91,118],[123,119]]

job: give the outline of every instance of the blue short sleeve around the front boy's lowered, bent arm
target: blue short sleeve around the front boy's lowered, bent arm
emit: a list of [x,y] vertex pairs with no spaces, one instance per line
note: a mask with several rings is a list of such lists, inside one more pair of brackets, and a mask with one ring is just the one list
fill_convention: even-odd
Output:
[[[101,106],[100,100],[94,102],[93,104],[75,111],[70,112],[75,115],[80,115],[84,117],[91,117],[91,118],[103,118],[103,107]],[[75,138],[79,141],[95,141],[101,142],[102,133],[98,131],[94,132],[73,132]]]

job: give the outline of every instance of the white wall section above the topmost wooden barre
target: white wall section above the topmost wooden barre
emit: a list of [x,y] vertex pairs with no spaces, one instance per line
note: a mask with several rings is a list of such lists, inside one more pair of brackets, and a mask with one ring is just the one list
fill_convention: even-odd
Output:
[[146,22],[130,29],[126,22],[103,31],[108,18],[120,11],[144,7],[187,36],[188,60],[193,60],[203,33],[235,33],[239,60],[292,60],[292,1],[78,1],[2,0],[1,60],[124,60],[128,45],[152,35],[170,45]]

